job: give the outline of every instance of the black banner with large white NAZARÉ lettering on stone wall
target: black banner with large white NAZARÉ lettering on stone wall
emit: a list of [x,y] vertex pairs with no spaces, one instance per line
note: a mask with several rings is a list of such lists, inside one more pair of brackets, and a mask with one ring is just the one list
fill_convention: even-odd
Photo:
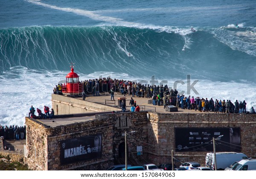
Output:
[[101,134],[63,140],[61,141],[61,165],[100,158],[101,145]]

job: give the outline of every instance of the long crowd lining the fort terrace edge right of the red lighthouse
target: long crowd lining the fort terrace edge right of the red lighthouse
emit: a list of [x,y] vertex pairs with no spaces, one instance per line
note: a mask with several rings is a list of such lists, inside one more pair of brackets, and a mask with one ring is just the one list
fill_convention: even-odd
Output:
[[[89,79],[86,81],[79,82],[82,84],[82,96],[85,100],[86,95],[99,96],[100,93],[110,93],[111,100],[114,99],[115,92],[120,92],[122,95],[131,95],[138,98],[151,98],[153,105],[158,105],[166,108],[166,106],[174,105],[180,107],[181,109],[188,110],[199,110],[200,112],[215,112],[215,113],[255,113],[253,107],[250,108],[250,111],[246,111],[246,102],[243,101],[239,103],[236,100],[232,103],[230,100],[217,100],[215,101],[210,98],[200,98],[193,96],[184,96],[179,95],[178,91],[170,90],[167,85],[149,85],[137,83],[135,81],[126,81],[119,79],[111,78],[101,78],[101,79]],[[62,94],[62,84],[58,84],[55,87],[56,94]],[[58,90],[57,90],[58,89]],[[122,104],[122,102],[121,102]],[[136,106],[134,106],[136,109]],[[126,110],[124,104],[121,106],[122,111]],[[134,108],[131,106],[131,111]],[[136,111],[136,110],[134,110]]]

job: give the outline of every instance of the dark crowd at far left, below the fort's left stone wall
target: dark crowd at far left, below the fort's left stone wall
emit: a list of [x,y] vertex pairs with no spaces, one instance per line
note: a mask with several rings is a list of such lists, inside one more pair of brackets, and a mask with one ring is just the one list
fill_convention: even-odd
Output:
[[0,125],[0,137],[3,136],[6,140],[23,140],[26,139],[26,126],[3,127]]

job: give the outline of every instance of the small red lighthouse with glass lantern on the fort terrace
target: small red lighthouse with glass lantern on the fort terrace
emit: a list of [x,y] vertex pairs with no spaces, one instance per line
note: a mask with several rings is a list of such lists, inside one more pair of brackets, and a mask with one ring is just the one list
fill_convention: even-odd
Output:
[[82,92],[82,84],[79,81],[79,75],[74,72],[73,65],[71,72],[66,76],[66,84],[62,86],[64,95],[80,95]]

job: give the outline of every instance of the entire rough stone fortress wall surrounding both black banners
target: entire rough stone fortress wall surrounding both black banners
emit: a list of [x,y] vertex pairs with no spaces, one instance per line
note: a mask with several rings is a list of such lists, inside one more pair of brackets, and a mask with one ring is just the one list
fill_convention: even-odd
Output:
[[[143,146],[143,158],[158,165],[171,162],[175,148],[176,127],[240,127],[241,152],[256,157],[256,115],[214,113],[109,113],[95,119],[58,127],[47,127],[35,119],[26,118],[26,163],[32,170],[105,170],[113,165],[124,144],[125,131],[136,131],[128,136],[128,156],[137,156],[137,146]],[[60,165],[61,141],[81,136],[102,134],[102,157]],[[174,152],[181,162],[196,161],[205,165],[207,152]],[[180,163],[177,163],[180,165]]]

